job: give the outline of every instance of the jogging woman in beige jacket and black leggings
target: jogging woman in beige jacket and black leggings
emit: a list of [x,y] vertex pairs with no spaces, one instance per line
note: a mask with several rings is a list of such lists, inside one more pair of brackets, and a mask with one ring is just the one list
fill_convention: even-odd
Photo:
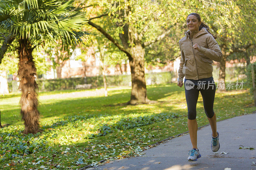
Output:
[[185,32],[185,37],[179,41],[181,59],[177,85],[182,87],[182,81],[185,76],[188,131],[193,146],[193,149],[188,154],[188,161],[196,161],[201,157],[197,148],[196,122],[196,103],[199,92],[201,92],[203,98],[204,112],[212,128],[212,151],[217,152],[220,148],[216,114],[213,111],[216,85],[212,77],[212,60],[221,62],[222,53],[218,43],[215,41],[217,36],[210,33],[209,26],[201,21],[199,14],[189,14],[186,23],[188,31]]

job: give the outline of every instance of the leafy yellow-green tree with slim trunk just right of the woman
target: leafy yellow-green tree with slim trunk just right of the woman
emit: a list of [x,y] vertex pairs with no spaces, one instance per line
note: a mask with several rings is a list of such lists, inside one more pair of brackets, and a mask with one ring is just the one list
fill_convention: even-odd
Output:
[[[226,61],[233,59],[234,53],[244,53],[256,43],[252,32],[256,29],[255,0],[222,0],[195,2],[192,9],[204,16],[213,32],[217,32],[218,42],[223,54],[220,62],[219,82],[225,86]],[[248,23],[250,23],[248,25]],[[237,55],[236,55],[237,56]],[[225,91],[226,89],[219,89]]]

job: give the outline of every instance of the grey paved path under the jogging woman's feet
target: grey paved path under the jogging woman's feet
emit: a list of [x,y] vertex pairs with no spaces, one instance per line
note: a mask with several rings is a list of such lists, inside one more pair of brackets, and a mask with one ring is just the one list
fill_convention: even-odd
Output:
[[[88,169],[142,169],[142,170],[256,170],[256,149],[238,149],[239,145],[256,148],[256,114],[243,115],[217,122],[220,133],[220,150],[211,150],[211,127],[198,130],[197,146],[202,155],[195,162],[188,162],[188,151],[192,148],[189,135],[173,138],[144,151],[144,157],[133,157],[111,161],[103,166]],[[228,154],[220,154],[228,152]]]

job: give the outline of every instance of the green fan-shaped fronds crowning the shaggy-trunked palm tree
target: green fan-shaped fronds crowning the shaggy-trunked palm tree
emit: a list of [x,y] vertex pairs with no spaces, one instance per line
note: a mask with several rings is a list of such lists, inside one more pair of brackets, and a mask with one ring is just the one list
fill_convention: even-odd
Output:
[[[85,13],[74,0],[0,0],[0,27],[36,45],[61,39],[65,46],[87,40]],[[8,4],[8,5],[6,5]]]

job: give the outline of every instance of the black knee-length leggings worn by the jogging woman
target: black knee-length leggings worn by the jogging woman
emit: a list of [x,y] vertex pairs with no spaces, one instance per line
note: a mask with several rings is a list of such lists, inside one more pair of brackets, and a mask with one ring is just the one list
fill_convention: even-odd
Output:
[[187,90],[185,88],[186,101],[188,105],[188,119],[194,120],[196,119],[196,103],[198,100],[199,91],[203,97],[204,103],[204,112],[207,117],[212,118],[214,115],[213,112],[213,102],[215,97],[216,85],[213,84],[207,89],[208,85],[197,89],[197,85],[195,85],[192,89]]

